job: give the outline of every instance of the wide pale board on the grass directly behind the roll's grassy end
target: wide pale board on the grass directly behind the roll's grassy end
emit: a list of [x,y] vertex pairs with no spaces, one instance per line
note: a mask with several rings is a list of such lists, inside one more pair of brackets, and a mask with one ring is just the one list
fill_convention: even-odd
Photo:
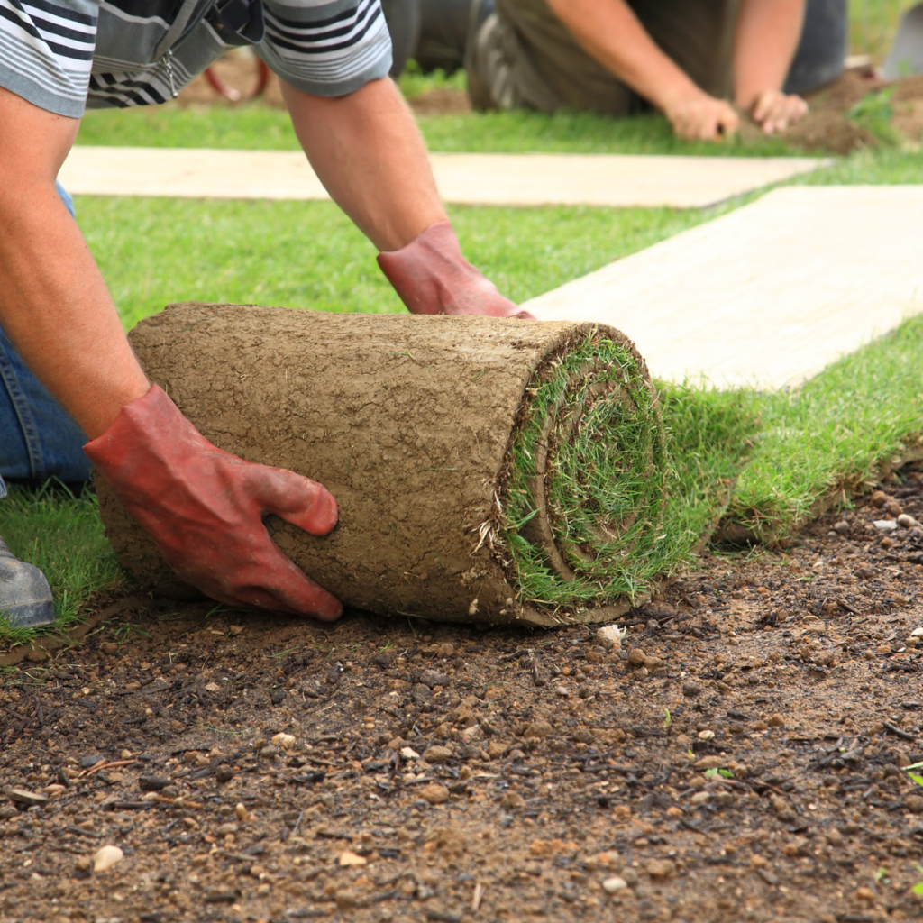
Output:
[[921,255],[923,186],[789,186],[523,307],[624,330],[657,378],[781,388],[923,312]]

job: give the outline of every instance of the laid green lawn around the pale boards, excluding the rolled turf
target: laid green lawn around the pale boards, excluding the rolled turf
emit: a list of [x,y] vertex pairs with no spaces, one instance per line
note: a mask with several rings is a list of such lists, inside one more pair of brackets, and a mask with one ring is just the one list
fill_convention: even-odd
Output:
[[[613,123],[472,115],[427,120],[423,129],[434,150],[785,152],[774,141],[772,150],[761,151],[681,145],[653,116]],[[79,141],[294,147],[285,115],[260,107],[90,113]],[[867,151],[794,182],[917,183],[919,164],[914,151]],[[522,301],[752,198],[711,210],[456,207],[450,213],[469,258]],[[402,310],[373,247],[329,202],[78,197],[77,210],[126,327],[181,300]],[[803,520],[817,497],[839,484],[856,485],[900,451],[902,440],[923,431],[920,354],[923,323],[910,321],[792,394],[665,388],[677,565],[713,523],[735,477],[728,515],[777,535]],[[79,617],[92,593],[119,579],[91,497],[15,493],[0,503],[0,534],[46,570],[62,625]]]

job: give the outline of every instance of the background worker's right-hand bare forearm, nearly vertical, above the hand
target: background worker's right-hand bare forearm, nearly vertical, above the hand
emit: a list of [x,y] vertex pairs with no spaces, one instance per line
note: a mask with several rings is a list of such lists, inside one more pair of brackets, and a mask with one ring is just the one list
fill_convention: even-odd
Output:
[[734,41],[734,97],[749,109],[765,90],[781,90],[795,57],[805,0],[743,0]]

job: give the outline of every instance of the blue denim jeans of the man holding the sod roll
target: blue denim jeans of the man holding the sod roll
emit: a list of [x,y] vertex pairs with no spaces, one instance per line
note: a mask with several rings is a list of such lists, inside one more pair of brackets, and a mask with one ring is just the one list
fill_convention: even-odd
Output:
[[[62,186],[58,195],[74,214],[74,203]],[[90,479],[83,454],[87,441],[70,414],[30,372],[0,328],[0,497],[4,478],[45,481],[56,477],[69,484]]]

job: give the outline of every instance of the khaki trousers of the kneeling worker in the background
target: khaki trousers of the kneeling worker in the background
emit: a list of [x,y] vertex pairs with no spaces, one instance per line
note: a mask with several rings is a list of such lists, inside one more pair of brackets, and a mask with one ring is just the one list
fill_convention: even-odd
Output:
[[[738,0],[629,0],[629,6],[702,90],[730,96]],[[465,65],[477,109],[627,115],[644,107],[581,48],[545,0],[497,0],[497,11],[469,36]]]

